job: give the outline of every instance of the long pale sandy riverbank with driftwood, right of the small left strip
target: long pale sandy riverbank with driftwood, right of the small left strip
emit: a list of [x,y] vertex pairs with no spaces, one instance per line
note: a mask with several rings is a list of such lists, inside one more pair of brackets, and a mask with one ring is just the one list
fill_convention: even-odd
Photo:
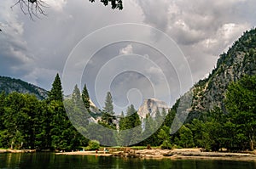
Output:
[[202,160],[227,160],[227,161],[256,161],[256,155],[247,153],[222,153],[222,152],[201,152],[201,149],[125,149],[111,153],[103,151],[77,151],[56,153],[56,155],[97,155],[97,156],[120,156],[132,158],[150,158],[172,160],[177,159],[202,159]]

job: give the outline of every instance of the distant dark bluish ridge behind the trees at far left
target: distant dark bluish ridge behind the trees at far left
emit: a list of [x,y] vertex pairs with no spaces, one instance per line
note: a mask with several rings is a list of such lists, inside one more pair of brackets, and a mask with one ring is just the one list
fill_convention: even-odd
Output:
[[0,76],[0,93],[3,91],[5,93],[32,93],[35,94],[38,99],[46,99],[48,93],[43,88],[21,81],[20,79]]

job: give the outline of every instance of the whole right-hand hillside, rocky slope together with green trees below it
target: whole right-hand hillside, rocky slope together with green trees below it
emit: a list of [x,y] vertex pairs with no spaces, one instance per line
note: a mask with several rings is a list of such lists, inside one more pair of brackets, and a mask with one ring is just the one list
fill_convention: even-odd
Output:
[[[177,147],[254,149],[256,128],[256,29],[246,31],[221,54],[215,69],[191,87],[189,117],[170,137]],[[179,100],[166,117],[172,124]]]

